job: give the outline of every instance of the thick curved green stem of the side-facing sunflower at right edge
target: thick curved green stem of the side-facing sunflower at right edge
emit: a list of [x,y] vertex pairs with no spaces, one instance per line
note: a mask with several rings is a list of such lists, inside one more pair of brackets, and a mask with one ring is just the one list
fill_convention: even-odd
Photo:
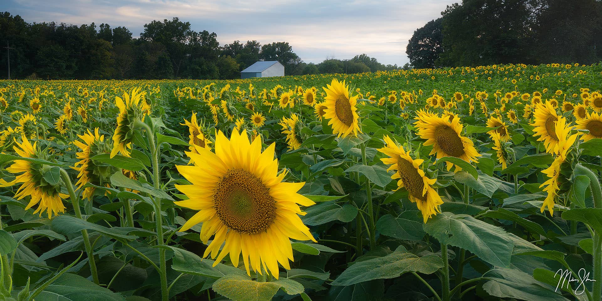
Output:
[[[581,164],[577,164],[575,171],[589,178],[589,188],[594,197],[594,208],[602,208],[602,190],[596,173]],[[602,233],[594,232],[594,290],[592,300],[602,300]]]

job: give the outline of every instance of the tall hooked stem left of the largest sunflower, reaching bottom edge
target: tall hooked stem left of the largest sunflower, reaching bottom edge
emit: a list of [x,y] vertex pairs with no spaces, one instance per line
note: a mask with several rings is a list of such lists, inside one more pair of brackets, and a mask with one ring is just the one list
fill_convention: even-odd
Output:
[[[142,120],[137,119],[134,123],[135,126],[140,126],[140,128],[146,131],[146,137],[149,139],[149,149],[151,151],[152,156],[152,169],[153,169],[153,184],[155,189],[159,189],[159,154],[158,147],[155,144],[155,132],[152,131],[151,127],[146,123],[142,122]],[[155,223],[157,224],[157,245],[164,244],[163,240],[163,216],[161,215],[161,199],[158,197],[152,198],[154,207],[155,207]],[[160,272],[159,276],[161,278],[161,296],[163,301],[167,301],[169,299],[169,290],[167,288],[167,265],[165,259],[165,249],[159,249],[159,264],[160,264]]]

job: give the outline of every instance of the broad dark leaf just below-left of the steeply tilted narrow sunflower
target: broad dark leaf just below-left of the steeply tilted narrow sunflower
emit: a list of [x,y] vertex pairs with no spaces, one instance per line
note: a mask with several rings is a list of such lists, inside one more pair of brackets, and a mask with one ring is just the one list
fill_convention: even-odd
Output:
[[423,218],[420,211],[406,210],[398,217],[391,214],[381,217],[376,222],[376,230],[382,235],[401,240],[419,241],[424,237]]

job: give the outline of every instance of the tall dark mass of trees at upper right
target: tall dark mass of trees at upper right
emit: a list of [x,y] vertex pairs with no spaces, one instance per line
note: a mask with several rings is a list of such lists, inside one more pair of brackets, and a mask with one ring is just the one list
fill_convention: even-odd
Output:
[[602,60],[600,0],[462,0],[414,31],[415,68]]

